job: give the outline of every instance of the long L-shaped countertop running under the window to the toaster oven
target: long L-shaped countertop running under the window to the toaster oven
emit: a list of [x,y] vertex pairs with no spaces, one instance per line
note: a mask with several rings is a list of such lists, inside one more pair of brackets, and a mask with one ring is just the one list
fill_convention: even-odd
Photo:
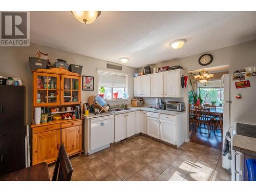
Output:
[[128,108],[130,108],[130,110],[101,113],[99,115],[95,115],[94,113],[89,113],[89,115],[83,115],[83,118],[90,119],[90,118],[96,118],[96,117],[102,117],[102,116],[114,115],[114,114],[121,114],[121,113],[127,113],[127,112],[132,112],[132,111],[140,111],[140,110],[147,111],[147,112],[166,114],[166,115],[177,115],[177,114],[185,112],[185,111],[179,112],[179,111],[168,111],[168,110],[156,110],[154,108],[147,108],[145,106],[140,106],[140,107],[128,106]]

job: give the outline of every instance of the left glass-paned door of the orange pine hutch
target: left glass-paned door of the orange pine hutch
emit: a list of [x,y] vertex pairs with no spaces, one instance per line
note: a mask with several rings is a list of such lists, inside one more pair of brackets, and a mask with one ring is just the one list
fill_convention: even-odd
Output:
[[59,104],[59,75],[34,74],[34,106],[48,106]]

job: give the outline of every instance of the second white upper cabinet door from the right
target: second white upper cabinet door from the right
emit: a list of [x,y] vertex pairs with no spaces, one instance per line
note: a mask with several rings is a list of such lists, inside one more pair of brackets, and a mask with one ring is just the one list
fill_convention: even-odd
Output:
[[163,73],[151,75],[151,97],[163,97]]

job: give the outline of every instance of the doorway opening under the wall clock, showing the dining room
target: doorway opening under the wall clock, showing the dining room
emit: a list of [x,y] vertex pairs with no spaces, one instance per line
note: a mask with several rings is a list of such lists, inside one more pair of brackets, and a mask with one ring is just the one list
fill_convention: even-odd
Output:
[[[219,66],[188,72],[189,139],[220,151],[223,122],[223,91],[220,87],[221,77],[229,73],[228,68],[229,66]],[[200,82],[194,77],[203,69],[208,74],[213,74],[206,82]]]

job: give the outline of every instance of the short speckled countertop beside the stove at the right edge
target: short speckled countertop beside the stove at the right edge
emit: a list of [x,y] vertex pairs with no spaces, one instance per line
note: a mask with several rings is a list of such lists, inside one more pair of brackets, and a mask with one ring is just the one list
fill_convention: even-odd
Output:
[[256,138],[243,135],[234,135],[233,150],[247,155],[256,156]]

